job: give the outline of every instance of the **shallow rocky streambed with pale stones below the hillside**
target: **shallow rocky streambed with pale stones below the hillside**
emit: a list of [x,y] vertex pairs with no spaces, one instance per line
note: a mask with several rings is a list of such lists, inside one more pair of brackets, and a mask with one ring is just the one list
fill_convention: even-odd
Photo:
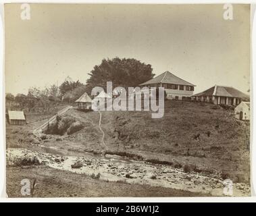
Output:
[[[203,192],[211,196],[224,196],[224,182],[198,173],[184,173],[168,165],[153,165],[143,161],[127,160],[117,155],[74,157],[30,151],[26,148],[7,148],[7,165],[21,159],[34,160],[55,169],[90,175],[92,178],[128,184],[148,184],[190,192]],[[234,183],[233,196],[250,196],[250,187]]]

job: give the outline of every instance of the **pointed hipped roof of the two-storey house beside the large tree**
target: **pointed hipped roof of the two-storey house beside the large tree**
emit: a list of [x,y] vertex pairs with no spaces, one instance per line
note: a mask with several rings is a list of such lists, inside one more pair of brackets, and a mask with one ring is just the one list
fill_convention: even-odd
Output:
[[147,84],[155,84],[155,83],[195,86],[194,84],[191,84],[190,82],[186,82],[185,80],[178,78],[178,76],[175,76],[174,74],[172,74],[170,72],[164,72],[163,74],[160,74],[159,76],[156,76],[155,78],[153,78],[147,82],[143,82],[142,84],[140,84],[140,86],[145,86]]

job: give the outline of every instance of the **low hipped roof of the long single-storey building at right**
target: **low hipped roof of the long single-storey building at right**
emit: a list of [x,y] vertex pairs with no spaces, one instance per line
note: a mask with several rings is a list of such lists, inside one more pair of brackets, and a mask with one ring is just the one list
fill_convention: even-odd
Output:
[[196,96],[219,96],[219,97],[236,97],[236,98],[249,98],[248,94],[240,92],[233,87],[228,86],[213,86],[208,88],[207,90],[200,92],[198,94],[194,94],[193,97]]

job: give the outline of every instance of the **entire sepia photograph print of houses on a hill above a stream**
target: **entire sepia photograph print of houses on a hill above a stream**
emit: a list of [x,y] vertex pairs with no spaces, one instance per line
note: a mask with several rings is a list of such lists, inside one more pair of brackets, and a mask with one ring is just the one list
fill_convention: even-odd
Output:
[[251,5],[3,9],[6,197],[252,196]]

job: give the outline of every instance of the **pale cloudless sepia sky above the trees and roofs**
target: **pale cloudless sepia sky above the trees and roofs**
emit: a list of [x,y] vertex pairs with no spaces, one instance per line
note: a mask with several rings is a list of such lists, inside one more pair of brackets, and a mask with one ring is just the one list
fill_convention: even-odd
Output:
[[102,59],[135,58],[196,85],[250,88],[250,7],[233,5],[5,4],[5,92],[86,82]]

